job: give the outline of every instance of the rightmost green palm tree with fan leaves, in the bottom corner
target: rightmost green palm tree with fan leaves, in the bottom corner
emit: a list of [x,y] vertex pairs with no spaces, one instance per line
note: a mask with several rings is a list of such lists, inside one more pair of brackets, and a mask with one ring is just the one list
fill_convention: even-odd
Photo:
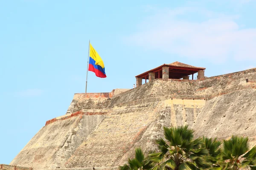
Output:
[[256,170],[256,146],[249,151],[248,137],[232,136],[223,141],[219,170]]

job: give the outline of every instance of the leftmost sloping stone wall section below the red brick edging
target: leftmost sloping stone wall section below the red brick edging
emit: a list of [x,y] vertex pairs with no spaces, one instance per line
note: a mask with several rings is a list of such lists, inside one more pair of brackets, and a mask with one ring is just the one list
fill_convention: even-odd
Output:
[[80,115],[44,126],[12,160],[11,165],[48,169],[63,167],[104,115]]

